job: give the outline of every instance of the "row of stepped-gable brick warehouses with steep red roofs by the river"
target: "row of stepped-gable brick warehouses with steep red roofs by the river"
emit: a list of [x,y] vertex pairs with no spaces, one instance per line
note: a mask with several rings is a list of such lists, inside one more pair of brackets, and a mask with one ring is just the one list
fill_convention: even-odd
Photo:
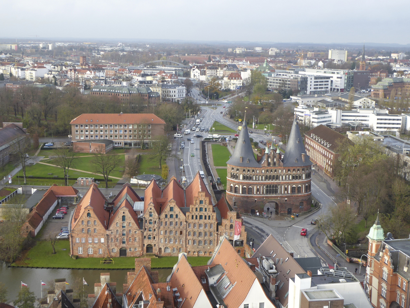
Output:
[[[139,210],[142,204],[143,214]],[[175,177],[163,190],[152,181],[144,202],[130,184],[124,184],[109,202],[93,183],[75,209],[70,249],[80,257],[175,256],[181,252],[210,256],[225,235],[244,255],[246,232],[242,223],[225,198],[212,205],[199,173],[185,189]],[[234,226],[238,225],[240,233],[235,237]]]

